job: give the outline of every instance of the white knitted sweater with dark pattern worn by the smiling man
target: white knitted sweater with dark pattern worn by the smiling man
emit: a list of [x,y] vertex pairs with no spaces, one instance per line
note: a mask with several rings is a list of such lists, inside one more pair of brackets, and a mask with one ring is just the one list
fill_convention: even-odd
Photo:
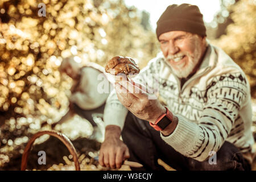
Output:
[[[177,152],[204,161],[210,151],[217,152],[228,141],[242,152],[254,153],[250,85],[224,51],[209,44],[199,70],[182,88],[163,55],[152,59],[134,80],[150,88],[154,81],[148,73],[159,73],[159,97],[179,119],[171,135],[161,134]],[[127,112],[113,90],[106,102],[105,126],[122,129]]]

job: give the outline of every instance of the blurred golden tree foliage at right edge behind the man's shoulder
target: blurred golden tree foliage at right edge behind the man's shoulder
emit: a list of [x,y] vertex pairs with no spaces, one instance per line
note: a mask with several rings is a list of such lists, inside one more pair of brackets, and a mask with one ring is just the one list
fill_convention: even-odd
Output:
[[251,96],[256,97],[256,1],[240,0],[228,7],[230,18],[226,35],[212,42],[220,46],[246,73]]

